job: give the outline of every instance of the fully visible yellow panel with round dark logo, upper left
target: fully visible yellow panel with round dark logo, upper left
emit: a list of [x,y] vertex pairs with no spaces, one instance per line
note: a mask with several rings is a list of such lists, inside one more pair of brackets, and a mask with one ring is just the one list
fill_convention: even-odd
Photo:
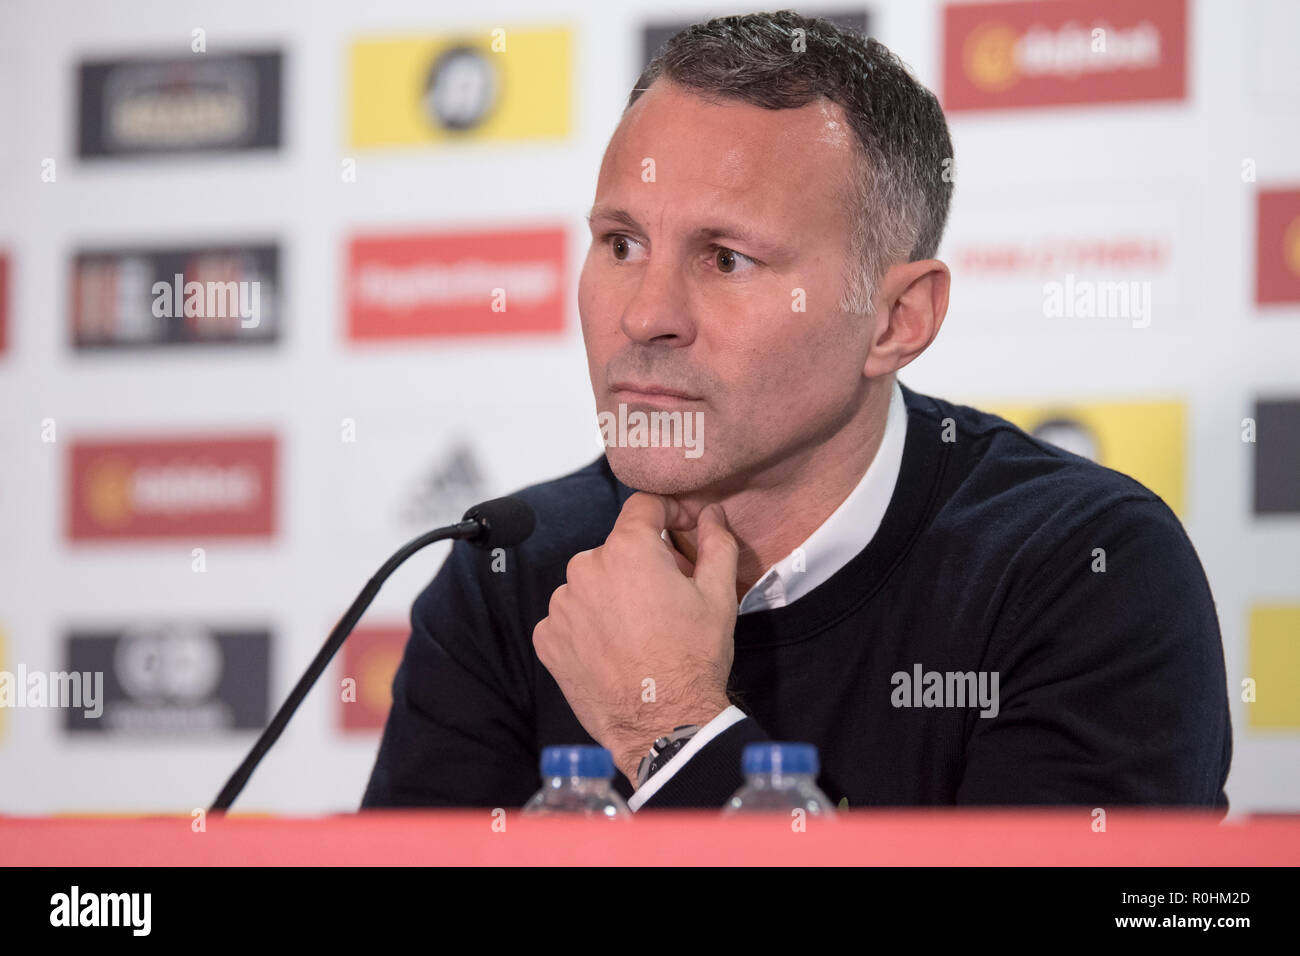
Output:
[[348,142],[559,139],[571,100],[567,29],[361,39],[351,49]]

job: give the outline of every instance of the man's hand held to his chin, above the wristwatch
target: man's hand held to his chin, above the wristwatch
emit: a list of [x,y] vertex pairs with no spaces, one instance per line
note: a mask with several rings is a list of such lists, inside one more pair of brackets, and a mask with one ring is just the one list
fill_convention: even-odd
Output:
[[729,705],[736,538],[722,506],[710,505],[692,567],[664,540],[670,528],[689,528],[677,502],[633,494],[604,544],[569,561],[567,584],[533,630],[573,714],[633,784],[655,737]]

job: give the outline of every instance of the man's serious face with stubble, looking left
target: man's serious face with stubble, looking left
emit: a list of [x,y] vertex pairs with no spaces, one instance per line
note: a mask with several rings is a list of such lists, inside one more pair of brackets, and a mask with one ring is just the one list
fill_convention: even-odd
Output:
[[698,457],[607,447],[620,481],[675,496],[780,481],[858,411],[872,316],[838,311],[855,163],[827,100],[710,103],[660,79],[624,114],[578,284],[597,412],[703,431]]

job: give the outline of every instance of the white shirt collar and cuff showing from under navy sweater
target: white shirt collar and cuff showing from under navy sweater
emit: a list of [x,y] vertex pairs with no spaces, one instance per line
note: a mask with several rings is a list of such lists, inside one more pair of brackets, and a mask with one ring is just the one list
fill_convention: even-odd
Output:
[[[740,602],[740,614],[794,604],[814,588],[831,580],[836,571],[867,546],[893,498],[898,472],[902,468],[906,437],[907,406],[904,403],[902,389],[896,378],[889,393],[885,432],[862,480],[802,545],[772,564],[754,587],[745,592]],[[685,747],[632,795],[628,806],[633,810],[640,809],[692,756],[702,750],[705,744],[742,719],[745,711],[734,705],[723,710],[701,727]]]

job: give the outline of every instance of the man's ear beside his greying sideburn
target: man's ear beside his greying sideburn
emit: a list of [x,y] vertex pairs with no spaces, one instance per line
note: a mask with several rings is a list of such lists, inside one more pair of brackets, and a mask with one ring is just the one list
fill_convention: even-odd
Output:
[[862,372],[896,372],[920,355],[948,313],[952,273],[937,259],[900,263],[885,272],[875,299],[876,330]]

